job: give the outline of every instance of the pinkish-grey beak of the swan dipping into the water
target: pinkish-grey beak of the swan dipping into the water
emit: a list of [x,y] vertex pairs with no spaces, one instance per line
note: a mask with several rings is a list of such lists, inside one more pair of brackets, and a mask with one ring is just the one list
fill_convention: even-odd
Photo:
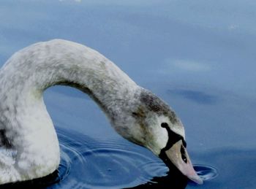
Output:
[[161,152],[159,157],[162,158],[162,160],[167,164],[168,160],[171,161],[171,163],[173,163],[174,166],[176,166],[178,170],[181,171],[182,174],[187,176],[189,180],[192,180],[199,185],[203,184],[203,180],[195,172],[195,169],[192,166],[187,150],[182,144],[181,140],[173,144],[173,146],[170,147],[170,149]]

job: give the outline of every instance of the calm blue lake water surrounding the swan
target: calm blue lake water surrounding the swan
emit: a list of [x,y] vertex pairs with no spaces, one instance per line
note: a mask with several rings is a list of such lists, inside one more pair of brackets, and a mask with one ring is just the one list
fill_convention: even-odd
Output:
[[98,50],[175,109],[205,180],[195,185],[168,172],[151,152],[118,136],[88,96],[56,86],[44,99],[61,165],[20,185],[256,188],[255,9],[255,1],[1,1],[1,65],[23,47],[56,38]]

